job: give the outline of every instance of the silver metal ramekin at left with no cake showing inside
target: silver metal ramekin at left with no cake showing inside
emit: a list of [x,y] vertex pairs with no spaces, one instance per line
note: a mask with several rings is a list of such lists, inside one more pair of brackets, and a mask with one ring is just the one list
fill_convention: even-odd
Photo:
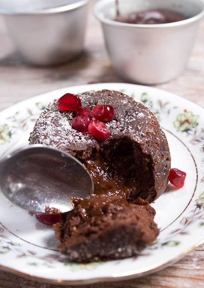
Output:
[[[16,1],[21,7],[13,8],[9,7],[10,1],[0,0],[0,13],[26,62],[55,65],[73,59],[82,51],[88,0],[22,2],[25,5]],[[47,6],[51,3],[53,8]],[[31,9],[31,5],[38,8]]]

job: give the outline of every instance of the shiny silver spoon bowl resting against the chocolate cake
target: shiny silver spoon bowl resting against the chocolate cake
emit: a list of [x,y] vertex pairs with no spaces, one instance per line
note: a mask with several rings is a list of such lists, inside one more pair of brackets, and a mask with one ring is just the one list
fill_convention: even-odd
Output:
[[0,188],[14,204],[35,213],[57,208],[73,210],[71,197],[88,198],[93,180],[75,157],[34,144],[20,147],[0,159]]

